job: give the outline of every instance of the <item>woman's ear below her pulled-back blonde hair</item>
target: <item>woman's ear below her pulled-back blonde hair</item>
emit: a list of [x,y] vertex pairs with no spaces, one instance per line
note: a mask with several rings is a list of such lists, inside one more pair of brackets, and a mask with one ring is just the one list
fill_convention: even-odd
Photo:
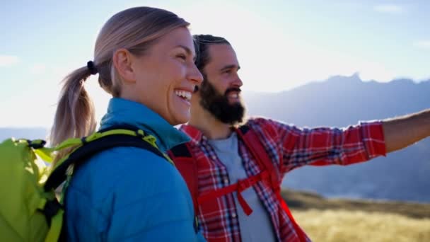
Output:
[[132,68],[133,56],[126,49],[120,49],[115,51],[112,57],[112,62],[117,69],[120,78],[124,82],[134,83],[136,82],[136,77]]

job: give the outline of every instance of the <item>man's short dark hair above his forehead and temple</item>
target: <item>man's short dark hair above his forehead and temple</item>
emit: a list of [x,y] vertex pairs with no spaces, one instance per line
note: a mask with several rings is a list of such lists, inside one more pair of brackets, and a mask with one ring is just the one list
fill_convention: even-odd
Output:
[[[214,35],[192,35],[194,38],[194,48],[196,50],[196,61],[195,64],[200,72],[202,72],[203,76],[203,68],[209,63],[209,45],[220,45],[220,44],[228,44],[225,38],[214,36]],[[206,78],[205,78],[206,79]]]

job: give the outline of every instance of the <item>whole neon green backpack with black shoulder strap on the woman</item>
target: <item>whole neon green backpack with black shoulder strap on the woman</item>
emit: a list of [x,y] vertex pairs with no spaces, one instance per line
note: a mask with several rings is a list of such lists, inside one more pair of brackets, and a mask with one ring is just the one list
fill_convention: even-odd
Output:
[[[173,163],[156,146],[156,138],[133,127],[112,127],[56,147],[45,141],[6,139],[0,144],[0,237],[2,241],[58,241],[64,207],[54,190],[71,178],[73,168],[94,154],[116,146],[148,149]],[[74,148],[50,169],[54,151]],[[42,161],[44,160],[44,161]],[[64,185],[64,188],[66,188]],[[63,189],[62,195],[64,195]],[[63,196],[62,196],[63,197]],[[61,201],[60,201],[61,200]],[[63,228],[64,229],[64,228]]]

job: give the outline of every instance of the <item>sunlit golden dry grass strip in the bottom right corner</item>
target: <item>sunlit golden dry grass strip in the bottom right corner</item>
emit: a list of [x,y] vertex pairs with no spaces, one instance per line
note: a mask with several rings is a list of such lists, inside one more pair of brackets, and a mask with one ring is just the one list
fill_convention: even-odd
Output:
[[350,210],[293,210],[313,241],[430,241],[430,219]]

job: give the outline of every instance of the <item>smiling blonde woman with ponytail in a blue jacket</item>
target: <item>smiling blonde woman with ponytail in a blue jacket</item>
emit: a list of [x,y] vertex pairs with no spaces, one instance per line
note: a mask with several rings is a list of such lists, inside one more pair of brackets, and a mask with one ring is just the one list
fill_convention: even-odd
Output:
[[[129,8],[100,31],[94,59],[64,80],[51,142],[95,131],[83,88],[91,74],[112,95],[100,129],[132,125],[156,137],[161,151],[186,142],[172,125],[187,122],[202,75],[194,65],[189,23],[158,8]],[[134,147],[100,152],[66,190],[70,241],[197,241],[192,199],[180,173],[156,154]]]

